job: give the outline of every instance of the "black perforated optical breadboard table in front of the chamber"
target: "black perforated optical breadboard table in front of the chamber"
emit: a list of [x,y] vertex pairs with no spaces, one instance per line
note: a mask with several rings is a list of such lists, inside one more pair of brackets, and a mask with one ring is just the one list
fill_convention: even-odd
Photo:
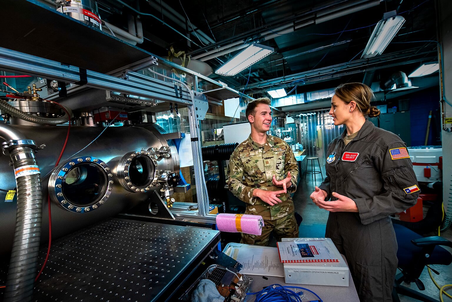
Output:
[[[110,219],[52,242],[33,301],[174,301],[220,232]],[[42,264],[47,249],[40,251]]]

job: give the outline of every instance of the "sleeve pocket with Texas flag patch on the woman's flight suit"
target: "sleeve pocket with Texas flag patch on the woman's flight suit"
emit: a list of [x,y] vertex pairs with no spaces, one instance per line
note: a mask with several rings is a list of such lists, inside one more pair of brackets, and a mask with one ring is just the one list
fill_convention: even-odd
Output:
[[405,166],[392,169],[382,175],[391,191],[402,199],[415,199],[419,191],[418,182],[408,172]]

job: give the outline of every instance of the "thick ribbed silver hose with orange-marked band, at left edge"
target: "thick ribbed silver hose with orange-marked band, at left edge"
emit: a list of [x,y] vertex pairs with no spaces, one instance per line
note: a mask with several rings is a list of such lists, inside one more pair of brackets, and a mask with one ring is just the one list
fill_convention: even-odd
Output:
[[[15,145],[5,148],[13,163],[17,185],[17,214],[13,249],[9,260],[5,302],[32,301],[42,222],[42,187],[33,149],[20,131],[0,124],[0,138]],[[22,142],[24,139],[26,142]],[[22,142],[22,143],[21,143]],[[22,144],[22,145],[21,145]],[[5,151],[6,152],[6,151]],[[6,153],[8,153],[6,152]],[[22,172],[21,172],[22,170]]]

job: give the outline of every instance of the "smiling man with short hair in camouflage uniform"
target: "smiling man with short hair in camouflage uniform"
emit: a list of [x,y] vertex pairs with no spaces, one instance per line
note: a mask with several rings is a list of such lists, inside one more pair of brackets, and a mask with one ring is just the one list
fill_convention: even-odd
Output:
[[245,114],[251,134],[235,148],[228,166],[228,187],[246,203],[245,214],[264,219],[262,235],[242,233],[241,243],[268,245],[273,230],[276,240],[298,237],[298,225],[290,193],[297,189],[298,165],[291,147],[267,135],[272,123],[270,100],[251,101]]

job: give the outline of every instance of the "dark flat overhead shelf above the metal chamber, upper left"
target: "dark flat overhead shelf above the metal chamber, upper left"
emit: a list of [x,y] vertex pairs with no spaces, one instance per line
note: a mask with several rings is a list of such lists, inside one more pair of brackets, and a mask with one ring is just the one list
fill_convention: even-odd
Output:
[[34,0],[3,0],[0,47],[108,73],[152,54]]

